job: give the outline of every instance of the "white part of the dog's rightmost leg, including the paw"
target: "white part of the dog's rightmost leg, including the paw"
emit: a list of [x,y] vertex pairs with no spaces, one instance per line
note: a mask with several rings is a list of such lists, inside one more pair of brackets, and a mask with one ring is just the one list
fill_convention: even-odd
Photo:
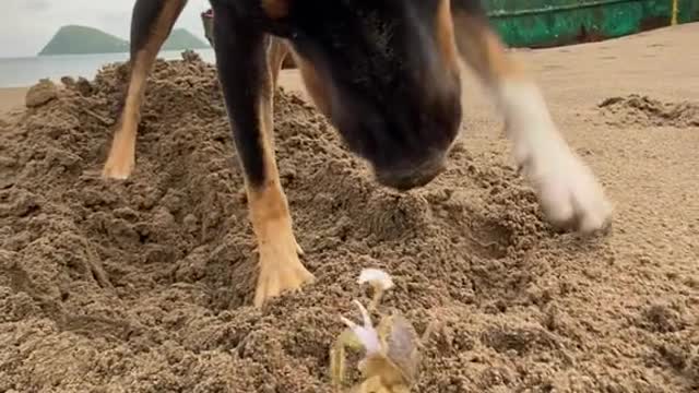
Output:
[[536,85],[507,83],[499,93],[514,159],[548,221],[580,233],[606,227],[612,205],[590,168],[559,134]]

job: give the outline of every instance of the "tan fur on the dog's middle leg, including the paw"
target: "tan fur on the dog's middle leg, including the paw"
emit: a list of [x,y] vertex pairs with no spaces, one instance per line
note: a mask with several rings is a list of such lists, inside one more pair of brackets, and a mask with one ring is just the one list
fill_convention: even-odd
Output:
[[284,60],[283,50],[271,46],[268,52],[269,83],[261,96],[260,131],[264,157],[265,179],[261,187],[246,186],[252,228],[258,241],[260,254],[260,274],[254,294],[254,306],[262,305],[270,298],[286,290],[299,289],[304,284],[312,283],[313,275],[306,270],[299,260],[301,248],[294,236],[288,202],[282,189],[279,169],[274,156],[273,139],[273,104],[275,73]]

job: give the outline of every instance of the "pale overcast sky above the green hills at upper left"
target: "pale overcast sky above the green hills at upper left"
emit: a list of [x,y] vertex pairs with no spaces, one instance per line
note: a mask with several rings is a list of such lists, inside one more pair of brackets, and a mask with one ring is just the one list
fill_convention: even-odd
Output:
[[[134,0],[0,0],[0,57],[36,55],[59,27],[68,24],[97,27],[129,38]],[[203,38],[199,14],[208,0],[189,0],[176,27]]]

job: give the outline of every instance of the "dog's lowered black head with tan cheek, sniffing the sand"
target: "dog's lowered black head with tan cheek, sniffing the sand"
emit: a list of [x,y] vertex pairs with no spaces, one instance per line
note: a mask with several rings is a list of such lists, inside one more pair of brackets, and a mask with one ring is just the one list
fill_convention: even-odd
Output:
[[443,168],[461,124],[449,0],[260,0],[320,109],[378,180],[406,190]]

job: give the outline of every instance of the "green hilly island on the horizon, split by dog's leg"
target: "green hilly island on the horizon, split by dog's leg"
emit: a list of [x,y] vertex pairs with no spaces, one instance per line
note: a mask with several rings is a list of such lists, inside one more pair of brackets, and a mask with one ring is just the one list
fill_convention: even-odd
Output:
[[[162,50],[206,49],[209,44],[186,28],[175,28]],[[94,27],[62,26],[38,52],[38,56],[121,53],[129,51],[129,41]]]

